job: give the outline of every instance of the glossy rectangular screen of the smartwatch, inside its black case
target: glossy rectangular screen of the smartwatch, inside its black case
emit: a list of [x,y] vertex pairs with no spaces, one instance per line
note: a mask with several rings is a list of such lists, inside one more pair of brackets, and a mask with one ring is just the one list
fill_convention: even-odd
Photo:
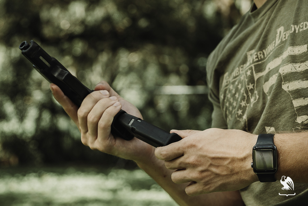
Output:
[[273,150],[255,150],[255,158],[257,170],[274,169]]

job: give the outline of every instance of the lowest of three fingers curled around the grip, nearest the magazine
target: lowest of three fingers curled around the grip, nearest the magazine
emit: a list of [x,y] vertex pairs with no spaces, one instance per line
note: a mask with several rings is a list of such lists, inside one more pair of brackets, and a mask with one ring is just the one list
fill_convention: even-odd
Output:
[[[113,105],[108,107],[103,113],[102,117],[98,122],[98,144],[99,146],[108,145],[110,142],[106,142],[107,138],[110,138],[111,123],[113,117],[120,111],[122,105],[119,101],[115,102]],[[105,150],[100,148],[100,150]],[[107,152],[107,151],[106,151]]]

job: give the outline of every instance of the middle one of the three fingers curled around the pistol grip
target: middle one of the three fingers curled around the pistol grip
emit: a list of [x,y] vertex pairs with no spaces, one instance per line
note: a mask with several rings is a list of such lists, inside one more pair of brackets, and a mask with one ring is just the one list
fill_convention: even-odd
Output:
[[102,117],[105,110],[113,105],[118,99],[115,96],[109,98],[103,98],[99,100],[94,107],[91,109],[88,118],[88,133],[92,137],[97,137],[97,130],[98,130],[98,122]]

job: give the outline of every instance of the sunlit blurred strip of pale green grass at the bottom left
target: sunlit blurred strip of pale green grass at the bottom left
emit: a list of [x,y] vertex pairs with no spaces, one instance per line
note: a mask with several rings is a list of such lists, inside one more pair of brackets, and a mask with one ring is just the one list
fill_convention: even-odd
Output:
[[96,167],[0,169],[1,206],[176,206],[141,170]]

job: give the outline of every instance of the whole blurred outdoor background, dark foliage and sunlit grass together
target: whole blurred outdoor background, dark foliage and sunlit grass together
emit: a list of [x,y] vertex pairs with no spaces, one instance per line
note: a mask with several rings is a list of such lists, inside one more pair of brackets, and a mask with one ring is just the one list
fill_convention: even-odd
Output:
[[147,122],[205,130],[207,58],[251,2],[0,0],[0,205],[176,205],[133,162],[82,145],[22,41],[91,89],[106,80]]

